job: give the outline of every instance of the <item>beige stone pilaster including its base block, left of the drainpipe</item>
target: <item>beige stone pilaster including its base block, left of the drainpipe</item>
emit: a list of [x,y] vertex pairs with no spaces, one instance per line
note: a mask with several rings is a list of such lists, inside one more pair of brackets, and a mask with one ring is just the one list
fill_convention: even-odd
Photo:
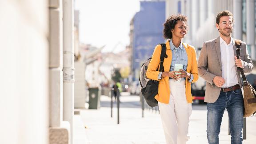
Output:
[[70,144],[70,124],[63,121],[62,0],[49,1],[49,143]]

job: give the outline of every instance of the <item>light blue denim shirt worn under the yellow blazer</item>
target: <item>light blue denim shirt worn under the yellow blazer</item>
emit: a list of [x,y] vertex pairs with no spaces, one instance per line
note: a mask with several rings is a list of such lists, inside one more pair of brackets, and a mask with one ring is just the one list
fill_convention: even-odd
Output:
[[[180,46],[178,48],[176,48],[172,44],[172,40],[170,40],[169,44],[170,44],[170,48],[171,48],[171,51],[172,51],[172,64],[171,64],[171,67],[170,67],[170,72],[174,71],[174,65],[175,64],[183,64],[183,70],[187,71],[188,55],[187,55],[187,52],[186,52],[182,42],[180,43]],[[162,72],[159,73],[158,79],[161,79],[161,75],[162,75]],[[191,78],[189,80],[190,83],[192,82],[193,78],[194,78],[193,75],[191,75]],[[170,79],[173,80],[172,78],[170,78]],[[183,77],[180,80],[185,81],[186,78]]]

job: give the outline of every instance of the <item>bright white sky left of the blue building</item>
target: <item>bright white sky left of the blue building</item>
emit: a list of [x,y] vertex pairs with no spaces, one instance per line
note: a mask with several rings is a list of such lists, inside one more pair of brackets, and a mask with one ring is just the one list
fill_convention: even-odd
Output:
[[[80,11],[80,42],[102,52],[120,52],[129,44],[130,22],[140,0],[75,0]],[[115,48],[116,46],[116,48]]]

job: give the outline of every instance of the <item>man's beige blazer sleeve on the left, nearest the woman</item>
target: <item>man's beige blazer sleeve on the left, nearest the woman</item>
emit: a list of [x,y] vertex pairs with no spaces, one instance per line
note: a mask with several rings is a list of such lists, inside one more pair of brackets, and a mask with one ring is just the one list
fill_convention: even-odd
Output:
[[198,58],[198,74],[208,83],[213,84],[212,80],[216,76],[211,72],[208,72],[208,56],[207,56],[207,45],[204,42],[203,47]]

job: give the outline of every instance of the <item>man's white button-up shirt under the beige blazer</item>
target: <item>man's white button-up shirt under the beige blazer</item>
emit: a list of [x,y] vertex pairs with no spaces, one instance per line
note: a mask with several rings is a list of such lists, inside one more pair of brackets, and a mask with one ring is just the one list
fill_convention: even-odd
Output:
[[221,86],[221,88],[228,88],[238,84],[237,72],[236,72],[236,64],[235,64],[235,55],[233,44],[235,40],[231,38],[229,44],[227,44],[220,37],[220,54],[221,54],[221,73],[222,78],[224,78],[225,83]]

